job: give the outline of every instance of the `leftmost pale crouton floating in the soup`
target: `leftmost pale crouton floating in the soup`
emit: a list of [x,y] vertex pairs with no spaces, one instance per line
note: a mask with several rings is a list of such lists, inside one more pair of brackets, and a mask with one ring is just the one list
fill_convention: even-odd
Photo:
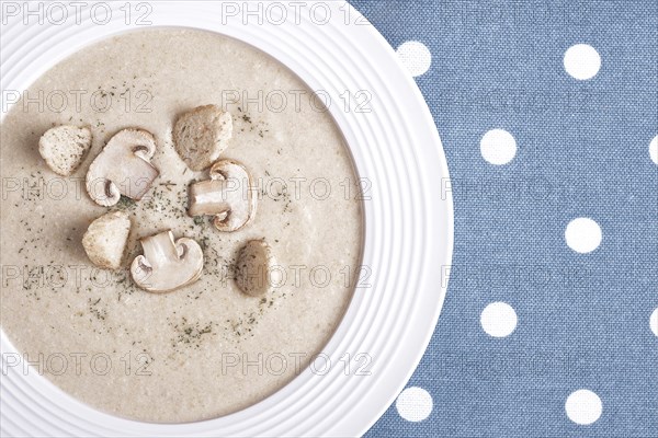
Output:
[[48,129],[38,140],[38,153],[53,172],[72,174],[91,148],[91,130],[87,127],[63,125]]

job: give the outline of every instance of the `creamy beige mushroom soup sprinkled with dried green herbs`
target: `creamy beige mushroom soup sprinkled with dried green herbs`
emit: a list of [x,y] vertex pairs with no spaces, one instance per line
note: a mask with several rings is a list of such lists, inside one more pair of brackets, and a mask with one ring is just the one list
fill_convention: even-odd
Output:
[[[188,215],[189,186],[209,175],[189,169],[172,142],[177,117],[207,104],[232,117],[219,159],[241,163],[258,189],[252,220],[234,232]],[[1,125],[1,324],[32,364],[8,372],[43,372],[97,408],[148,422],[225,415],[290,382],[340,322],[361,257],[358,177],[325,110],[269,56],[190,30],[122,34],[43,74]],[[39,137],[59,125],[93,136],[70,176],[39,155]],[[86,175],[125,128],[152,134],[159,174],[140,200],[103,207]],[[82,246],[109,211],[125,211],[132,224],[117,270],[95,267]],[[169,230],[198,243],[203,270],[151,293],[135,284],[131,263],[145,253],[140,239],[167,245]],[[256,297],[236,281],[237,257],[251,253],[276,261],[276,285],[242,285],[264,293]]]

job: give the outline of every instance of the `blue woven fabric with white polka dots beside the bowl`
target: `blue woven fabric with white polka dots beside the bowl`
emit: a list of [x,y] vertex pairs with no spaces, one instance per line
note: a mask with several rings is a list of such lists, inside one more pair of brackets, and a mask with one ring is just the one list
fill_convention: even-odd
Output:
[[658,437],[658,3],[352,3],[424,94],[455,208],[435,333],[366,436]]

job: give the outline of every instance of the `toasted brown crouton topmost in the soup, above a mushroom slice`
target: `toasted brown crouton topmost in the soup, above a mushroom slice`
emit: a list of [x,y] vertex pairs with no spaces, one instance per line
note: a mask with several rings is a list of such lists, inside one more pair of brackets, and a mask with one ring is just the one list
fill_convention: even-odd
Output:
[[232,136],[232,117],[217,105],[198,106],[173,126],[173,143],[193,171],[203,171],[219,158]]

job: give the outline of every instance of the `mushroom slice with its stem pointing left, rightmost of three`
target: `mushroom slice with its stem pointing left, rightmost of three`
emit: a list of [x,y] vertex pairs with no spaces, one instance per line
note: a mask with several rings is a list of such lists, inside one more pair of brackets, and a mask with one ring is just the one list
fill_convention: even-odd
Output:
[[217,161],[211,168],[209,180],[190,185],[188,215],[215,216],[217,230],[239,230],[256,215],[257,197],[252,192],[251,176],[240,163]]

